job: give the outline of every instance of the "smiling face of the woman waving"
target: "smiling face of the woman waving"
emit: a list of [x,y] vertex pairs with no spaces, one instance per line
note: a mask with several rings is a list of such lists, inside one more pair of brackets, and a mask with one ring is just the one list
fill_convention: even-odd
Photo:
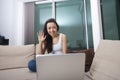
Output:
[[56,33],[57,33],[56,24],[54,22],[47,23],[47,31],[48,31],[48,34],[51,35],[52,37],[56,36]]

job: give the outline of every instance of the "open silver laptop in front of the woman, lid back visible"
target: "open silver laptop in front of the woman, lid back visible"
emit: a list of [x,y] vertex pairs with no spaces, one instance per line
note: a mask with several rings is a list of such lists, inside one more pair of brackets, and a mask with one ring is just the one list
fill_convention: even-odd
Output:
[[83,80],[85,54],[37,55],[37,80]]

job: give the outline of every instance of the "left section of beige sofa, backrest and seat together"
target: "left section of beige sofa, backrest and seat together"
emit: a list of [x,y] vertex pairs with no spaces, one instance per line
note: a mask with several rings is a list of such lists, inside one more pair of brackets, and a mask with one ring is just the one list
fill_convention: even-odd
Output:
[[34,44],[0,45],[0,80],[36,80],[36,72],[28,69],[28,62],[34,59],[34,53]]

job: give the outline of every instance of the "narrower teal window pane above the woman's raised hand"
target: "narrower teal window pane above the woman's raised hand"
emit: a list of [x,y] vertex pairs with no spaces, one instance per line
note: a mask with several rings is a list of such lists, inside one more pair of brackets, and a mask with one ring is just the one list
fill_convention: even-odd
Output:
[[37,32],[43,30],[44,23],[52,17],[52,3],[35,5],[35,43],[37,43]]

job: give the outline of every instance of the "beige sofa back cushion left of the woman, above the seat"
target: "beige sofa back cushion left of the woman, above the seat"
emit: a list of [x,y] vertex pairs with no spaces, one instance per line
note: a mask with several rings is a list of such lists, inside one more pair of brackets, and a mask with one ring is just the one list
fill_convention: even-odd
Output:
[[34,44],[23,46],[0,46],[0,70],[27,67],[34,58]]

